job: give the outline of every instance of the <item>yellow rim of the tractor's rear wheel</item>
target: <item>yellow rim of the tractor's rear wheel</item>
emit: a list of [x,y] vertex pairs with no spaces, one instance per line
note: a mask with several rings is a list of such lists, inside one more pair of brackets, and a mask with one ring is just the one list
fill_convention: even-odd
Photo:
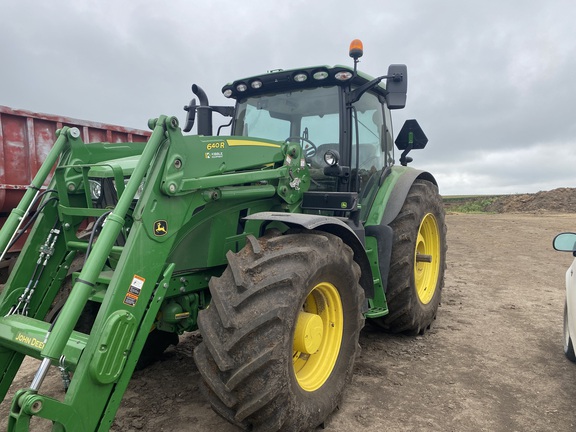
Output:
[[422,219],[414,251],[414,282],[423,304],[430,303],[440,274],[440,231],[433,214]]

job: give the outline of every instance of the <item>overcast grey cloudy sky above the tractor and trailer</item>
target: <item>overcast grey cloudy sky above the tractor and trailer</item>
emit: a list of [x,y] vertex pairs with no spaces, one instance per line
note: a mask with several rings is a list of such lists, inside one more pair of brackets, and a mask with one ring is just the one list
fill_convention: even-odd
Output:
[[146,128],[200,85],[270,69],[408,65],[399,131],[429,143],[413,166],[441,193],[576,187],[576,2],[461,0],[3,0],[0,105]]

